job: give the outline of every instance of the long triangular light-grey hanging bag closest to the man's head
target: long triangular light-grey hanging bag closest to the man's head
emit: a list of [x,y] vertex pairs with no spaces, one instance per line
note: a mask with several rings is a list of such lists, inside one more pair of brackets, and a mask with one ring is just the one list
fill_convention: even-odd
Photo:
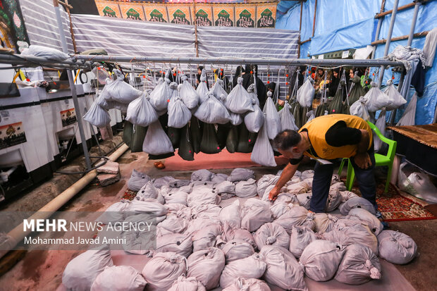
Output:
[[269,135],[265,123],[259,131],[257,142],[255,142],[250,159],[254,163],[259,163],[262,166],[276,166],[275,154],[273,153],[273,148],[269,141]]

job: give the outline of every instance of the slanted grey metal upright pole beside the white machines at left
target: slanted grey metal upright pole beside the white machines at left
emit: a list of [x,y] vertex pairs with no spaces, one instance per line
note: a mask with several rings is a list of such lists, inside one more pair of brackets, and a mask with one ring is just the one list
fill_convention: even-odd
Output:
[[[56,13],[56,20],[59,28],[59,35],[61,39],[62,51],[68,54],[66,35],[63,32],[61,11],[59,10],[58,0],[53,0],[53,5]],[[85,163],[87,164],[87,170],[91,168],[90,154],[88,153],[87,140],[85,139],[85,133],[82,125],[82,113],[80,113],[78,94],[76,93],[76,87],[74,84],[73,74],[71,70],[67,69],[68,82],[70,83],[71,96],[73,97],[73,104],[76,111],[76,117],[78,118],[78,127],[80,134],[80,141],[82,142],[83,155],[85,156]]]

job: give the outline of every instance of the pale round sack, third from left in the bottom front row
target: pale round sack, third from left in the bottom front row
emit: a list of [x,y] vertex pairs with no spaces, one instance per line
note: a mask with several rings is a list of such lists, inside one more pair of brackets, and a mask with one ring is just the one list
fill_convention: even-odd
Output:
[[180,275],[185,275],[185,258],[173,252],[159,253],[147,262],[142,275],[147,280],[147,290],[168,290]]

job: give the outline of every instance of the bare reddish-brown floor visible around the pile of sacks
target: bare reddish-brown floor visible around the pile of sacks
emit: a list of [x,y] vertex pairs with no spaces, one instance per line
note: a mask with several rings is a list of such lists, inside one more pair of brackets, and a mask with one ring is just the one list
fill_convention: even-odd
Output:
[[[121,180],[107,187],[89,185],[71,199],[61,211],[104,211],[109,205],[118,202],[127,188],[126,182],[135,168],[147,173],[153,178],[172,175],[175,178],[190,178],[190,171],[165,172],[154,168],[153,161],[148,161],[147,154],[131,153],[127,151],[118,159],[121,169]],[[300,170],[312,168],[311,164],[302,165]],[[266,173],[276,173],[276,168],[252,168],[257,179]],[[232,169],[214,170],[214,173],[229,174]],[[68,178],[70,179],[70,178]],[[73,181],[74,182],[74,181]],[[47,185],[46,185],[47,184]],[[51,181],[41,185],[30,195],[42,195],[47,187],[54,187]],[[63,185],[68,187],[68,183]],[[56,191],[61,192],[62,187]],[[64,188],[65,189],[65,188]],[[42,202],[25,204],[28,211],[36,211]],[[20,202],[9,204],[4,209],[20,209]],[[437,290],[436,276],[436,247],[437,247],[437,220],[407,221],[390,223],[390,228],[400,230],[410,235],[418,245],[420,256],[405,266],[396,266],[400,273],[411,283],[416,290]],[[32,251],[16,264],[8,273],[0,278],[0,290],[56,290],[61,284],[63,269],[68,261],[80,254],[79,251]],[[354,290],[351,286],[351,290]],[[362,289],[361,289],[362,290]]]

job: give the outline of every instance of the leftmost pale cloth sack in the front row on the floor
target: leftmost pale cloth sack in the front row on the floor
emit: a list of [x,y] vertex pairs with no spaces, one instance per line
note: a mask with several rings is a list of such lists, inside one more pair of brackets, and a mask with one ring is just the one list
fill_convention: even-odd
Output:
[[90,249],[68,262],[62,274],[62,284],[67,290],[88,291],[107,266],[113,266],[109,246]]

